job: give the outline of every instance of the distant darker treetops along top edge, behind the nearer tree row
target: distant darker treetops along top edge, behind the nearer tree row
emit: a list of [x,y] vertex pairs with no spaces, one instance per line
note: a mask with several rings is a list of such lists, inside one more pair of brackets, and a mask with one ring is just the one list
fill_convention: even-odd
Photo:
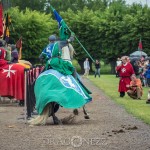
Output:
[[2,0],[5,10],[18,6],[20,10],[37,10],[50,13],[49,4],[59,11],[66,11],[70,8],[73,11],[83,10],[86,6],[90,10],[105,10],[110,0]]

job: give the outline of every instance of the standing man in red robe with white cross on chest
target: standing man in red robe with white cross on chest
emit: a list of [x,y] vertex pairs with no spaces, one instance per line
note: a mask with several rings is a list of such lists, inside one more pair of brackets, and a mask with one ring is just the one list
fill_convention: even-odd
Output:
[[131,76],[135,73],[132,65],[127,61],[126,56],[123,56],[121,60],[122,64],[116,67],[116,71],[119,72],[120,75],[118,91],[120,92],[120,97],[124,97],[125,92],[129,89]]

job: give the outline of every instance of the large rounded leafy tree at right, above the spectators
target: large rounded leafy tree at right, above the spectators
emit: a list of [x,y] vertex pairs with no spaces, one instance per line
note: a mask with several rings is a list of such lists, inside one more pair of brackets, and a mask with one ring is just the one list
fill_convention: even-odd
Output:
[[99,21],[104,58],[110,62],[116,60],[118,56],[129,55],[137,50],[140,37],[143,50],[149,54],[147,41],[150,38],[149,11],[146,6],[138,4],[127,6],[122,1],[110,4]]

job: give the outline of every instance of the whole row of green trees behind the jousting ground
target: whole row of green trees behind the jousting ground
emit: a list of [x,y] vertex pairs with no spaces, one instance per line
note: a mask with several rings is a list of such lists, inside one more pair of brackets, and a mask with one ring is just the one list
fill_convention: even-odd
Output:
[[[150,8],[146,5],[127,5],[123,0],[39,0],[40,6],[36,0],[32,4],[30,0],[13,1],[16,4],[12,6],[18,7],[7,10],[12,20],[10,37],[12,41],[23,37],[23,58],[36,61],[49,35],[58,35],[49,2],[94,59],[113,65],[117,57],[137,50],[140,38],[143,51],[150,55]],[[73,46],[75,58],[82,66],[88,55],[77,41]]]

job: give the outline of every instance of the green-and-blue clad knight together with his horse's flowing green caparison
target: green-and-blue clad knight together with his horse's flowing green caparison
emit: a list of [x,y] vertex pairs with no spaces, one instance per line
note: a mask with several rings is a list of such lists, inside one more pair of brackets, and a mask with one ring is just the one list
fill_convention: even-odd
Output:
[[51,35],[49,41],[39,56],[46,61],[45,71],[37,78],[34,87],[38,114],[50,102],[56,102],[64,108],[79,108],[92,100],[89,95],[91,92],[73,77],[73,65],[61,58],[62,47],[73,38],[56,41],[56,37]]

